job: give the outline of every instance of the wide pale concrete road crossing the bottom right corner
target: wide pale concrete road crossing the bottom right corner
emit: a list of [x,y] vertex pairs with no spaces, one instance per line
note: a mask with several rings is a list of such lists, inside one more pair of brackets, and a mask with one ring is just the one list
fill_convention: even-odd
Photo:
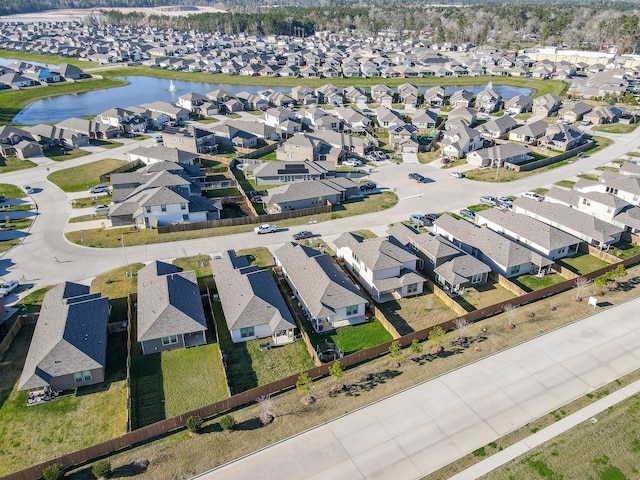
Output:
[[196,478],[421,478],[640,368],[639,306],[611,307]]

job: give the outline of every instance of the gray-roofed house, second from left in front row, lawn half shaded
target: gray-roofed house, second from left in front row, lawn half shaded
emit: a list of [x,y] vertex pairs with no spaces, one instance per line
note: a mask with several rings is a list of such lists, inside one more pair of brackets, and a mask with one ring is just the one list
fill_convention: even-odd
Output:
[[144,355],[207,343],[207,319],[193,270],[151,262],[138,271],[137,304],[137,340]]

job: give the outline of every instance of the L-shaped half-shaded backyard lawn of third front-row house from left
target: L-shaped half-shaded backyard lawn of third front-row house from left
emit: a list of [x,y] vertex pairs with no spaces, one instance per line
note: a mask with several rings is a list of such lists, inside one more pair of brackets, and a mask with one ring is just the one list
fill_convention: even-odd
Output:
[[227,358],[227,376],[231,393],[239,393],[265,385],[314,366],[301,339],[288,345],[260,350],[268,339],[233,343],[220,302],[213,302],[213,315],[220,347]]

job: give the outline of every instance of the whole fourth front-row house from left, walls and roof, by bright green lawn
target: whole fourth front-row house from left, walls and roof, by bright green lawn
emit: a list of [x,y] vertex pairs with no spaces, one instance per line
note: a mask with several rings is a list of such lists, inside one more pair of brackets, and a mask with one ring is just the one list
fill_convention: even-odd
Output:
[[367,321],[366,298],[328,254],[287,242],[275,260],[317,332]]

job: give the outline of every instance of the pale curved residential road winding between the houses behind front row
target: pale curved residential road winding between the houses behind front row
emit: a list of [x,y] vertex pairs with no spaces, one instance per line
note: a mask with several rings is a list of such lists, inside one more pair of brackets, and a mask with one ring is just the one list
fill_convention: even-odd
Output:
[[[313,225],[314,233],[331,240],[342,232],[368,228],[382,233],[389,223],[404,220],[415,212],[441,212],[463,208],[477,203],[478,197],[486,194],[517,195],[535,187],[549,186],[553,182],[571,178],[580,171],[588,171],[610,160],[619,158],[639,146],[637,133],[608,135],[615,143],[593,155],[554,170],[533,175],[510,183],[490,184],[456,179],[450,170],[440,169],[439,164],[392,164],[383,162],[369,175],[379,185],[394,189],[399,196],[398,204],[388,210],[322,222]],[[125,140],[126,141],[126,140]],[[22,283],[41,287],[64,280],[85,281],[95,275],[133,262],[149,262],[156,259],[173,259],[200,253],[215,253],[227,249],[255,246],[279,245],[290,240],[291,233],[308,226],[293,227],[291,231],[279,231],[267,236],[242,233],[225,237],[212,237],[180,242],[125,246],[122,248],[96,249],[72,244],[63,231],[71,214],[67,195],[46,177],[50,171],[93,162],[102,158],[124,159],[126,151],[139,145],[151,144],[151,140],[132,143],[111,150],[97,150],[91,155],[54,163],[49,159],[38,159],[38,166],[0,175],[0,183],[14,185],[29,184],[38,189],[32,195],[38,206],[38,215],[24,241],[0,256],[0,277],[4,280],[23,278]],[[465,166],[466,167],[466,166]],[[50,169],[47,170],[47,168]],[[458,167],[464,170],[464,167]],[[411,171],[418,171],[434,180],[417,184],[408,180]],[[126,259],[125,259],[126,254]],[[25,292],[23,292],[25,293]]]

